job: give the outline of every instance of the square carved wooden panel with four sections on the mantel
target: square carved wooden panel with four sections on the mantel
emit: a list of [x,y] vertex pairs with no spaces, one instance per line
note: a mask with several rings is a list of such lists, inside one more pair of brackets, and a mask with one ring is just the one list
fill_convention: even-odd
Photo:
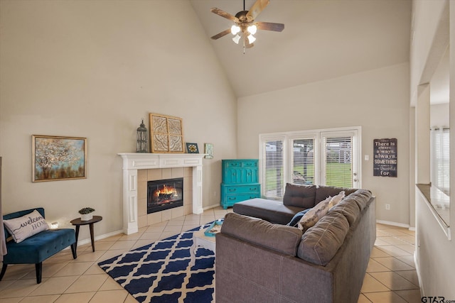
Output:
[[183,153],[182,119],[150,114],[152,153]]

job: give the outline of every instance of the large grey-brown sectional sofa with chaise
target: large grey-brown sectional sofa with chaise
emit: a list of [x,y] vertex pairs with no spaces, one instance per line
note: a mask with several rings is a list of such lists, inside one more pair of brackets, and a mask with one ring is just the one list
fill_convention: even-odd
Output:
[[[305,233],[284,225],[341,190],[347,196]],[[235,204],[244,214],[225,216],[216,236],[216,302],[357,302],[376,238],[375,197],[314,185],[287,184],[286,192],[286,204],[253,199]]]

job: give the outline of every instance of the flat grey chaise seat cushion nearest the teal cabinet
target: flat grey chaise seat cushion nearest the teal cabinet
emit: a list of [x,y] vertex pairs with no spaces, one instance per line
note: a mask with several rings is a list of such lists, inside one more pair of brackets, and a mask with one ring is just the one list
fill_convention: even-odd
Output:
[[235,203],[233,210],[237,214],[254,216],[271,223],[288,224],[294,214],[302,209],[286,206],[279,201],[255,198]]

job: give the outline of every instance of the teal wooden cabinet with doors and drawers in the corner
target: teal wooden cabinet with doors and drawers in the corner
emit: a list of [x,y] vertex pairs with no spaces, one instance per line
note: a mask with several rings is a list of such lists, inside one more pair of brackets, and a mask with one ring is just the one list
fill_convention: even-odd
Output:
[[235,203],[259,198],[258,160],[222,160],[221,206],[227,209]]

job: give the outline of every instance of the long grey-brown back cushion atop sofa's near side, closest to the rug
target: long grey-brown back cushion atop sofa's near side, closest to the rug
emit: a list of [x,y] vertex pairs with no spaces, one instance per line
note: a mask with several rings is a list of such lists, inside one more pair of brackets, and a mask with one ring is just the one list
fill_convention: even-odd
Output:
[[297,253],[302,235],[299,228],[271,224],[235,213],[226,214],[221,233],[293,256]]

